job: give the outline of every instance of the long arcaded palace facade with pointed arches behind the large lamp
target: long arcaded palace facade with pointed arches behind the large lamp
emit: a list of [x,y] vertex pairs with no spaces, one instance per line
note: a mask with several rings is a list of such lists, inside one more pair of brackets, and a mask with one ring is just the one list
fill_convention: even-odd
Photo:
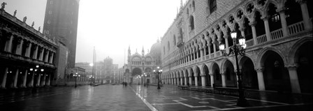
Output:
[[237,87],[232,31],[246,39],[239,56],[242,86],[261,91],[313,93],[312,1],[189,0],[161,39],[162,82]]

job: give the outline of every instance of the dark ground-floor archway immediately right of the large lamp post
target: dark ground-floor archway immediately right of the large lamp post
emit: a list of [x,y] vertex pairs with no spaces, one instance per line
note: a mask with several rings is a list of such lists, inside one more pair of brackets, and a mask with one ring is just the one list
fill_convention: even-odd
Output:
[[242,87],[248,89],[258,89],[258,77],[254,70],[254,64],[249,57],[242,57],[240,60],[241,73],[242,73]]

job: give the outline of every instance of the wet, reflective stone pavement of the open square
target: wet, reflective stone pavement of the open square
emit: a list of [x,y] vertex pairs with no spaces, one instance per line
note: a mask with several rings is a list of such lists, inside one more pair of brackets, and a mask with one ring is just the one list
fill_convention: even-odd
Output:
[[0,92],[2,110],[313,110],[312,95],[252,93],[249,107],[236,106],[237,97],[177,89],[164,85],[100,85],[49,87]]

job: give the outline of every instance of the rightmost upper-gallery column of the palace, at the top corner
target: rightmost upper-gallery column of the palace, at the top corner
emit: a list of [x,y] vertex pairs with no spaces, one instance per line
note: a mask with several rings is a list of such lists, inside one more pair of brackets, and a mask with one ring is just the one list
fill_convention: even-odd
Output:
[[300,1],[301,13],[303,17],[303,24],[305,29],[312,29],[312,23],[310,23],[309,11],[307,10],[307,1]]

